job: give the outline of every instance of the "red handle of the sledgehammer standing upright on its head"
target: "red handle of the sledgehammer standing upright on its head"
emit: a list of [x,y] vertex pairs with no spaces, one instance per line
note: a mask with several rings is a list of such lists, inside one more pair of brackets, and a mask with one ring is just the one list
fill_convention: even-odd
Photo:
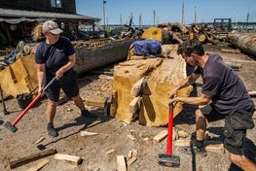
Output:
[[173,126],[173,105],[169,105],[168,134],[167,134],[167,155],[172,155],[172,126]]

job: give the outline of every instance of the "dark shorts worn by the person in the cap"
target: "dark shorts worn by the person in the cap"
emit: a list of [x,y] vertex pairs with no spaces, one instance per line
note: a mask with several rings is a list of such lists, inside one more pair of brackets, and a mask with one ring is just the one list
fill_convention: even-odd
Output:
[[[54,79],[54,77],[47,77],[46,84],[50,83],[52,79]],[[60,88],[62,88],[66,96],[70,98],[75,97],[79,94],[79,86],[74,71],[66,73],[65,75],[63,75],[62,78],[55,81],[55,83],[46,90],[47,97],[51,101],[57,102],[59,98]]]

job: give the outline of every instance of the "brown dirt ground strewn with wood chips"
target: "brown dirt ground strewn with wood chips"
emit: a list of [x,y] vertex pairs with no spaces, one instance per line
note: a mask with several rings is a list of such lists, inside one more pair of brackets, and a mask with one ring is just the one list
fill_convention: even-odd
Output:
[[[235,61],[241,64],[237,71],[238,76],[246,85],[247,89],[256,90],[256,60],[244,53],[221,52],[220,49],[231,49],[227,45],[223,47],[206,46],[206,51],[219,52],[226,61]],[[97,75],[79,76],[80,92],[83,98],[94,95],[108,97],[111,94],[111,78],[102,78]],[[200,93],[201,84],[198,84]],[[194,92],[196,94],[197,92]],[[140,125],[137,121],[131,124],[115,120],[106,116],[102,108],[89,107],[92,113],[96,114],[98,119],[83,119],[80,117],[80,111],[73,102],[68,101],[57,107],[55,116],[55,127],[59,136],[51,138],[46,131],[46,102],[44,99],[41,105],[31,109],[28,114],[18,122],[18,131],[11,133],[3,127],[4,121],[15,120],[21,111],[18,108],[16,99],[6,101],[7,110],[11,114],[0,115],[0,170],[10,170],[8,164],[10,161],[29,154],[41,152],[38,145],[46,149],[55,149],[59,154],[71,154],[83,157],[80,165],[74,165],[61,160],[54,159],[53,155],[47,157],[49,163],[43,167],[42,171],[114,171],[118,170],[117,155],[125,155],[128,159],[128,151],[137,150],[138,155],[135,162],[128,166],[130,171],[167,171],[167,170],[203,170],[203,171],[226,171],[239,170],[231,165],[228,159],[228,153],[208,153],[207,156],[186,155],[180,152],[181,148],[174,147],[173,154],[180,156],[180,167],[166,168],[158,164],[158,155],[165,153],[166,139],[161,143],[153,141],[157,135],[166,127],[146,127]],[[255,102],[255,99],[254,99]],[[185,105],[184,111],[174,123],[188,123],[192,129],[195,129],[195,107]],[[2,106],[0,111],[2,111]],[[223,141],[224,120],[219,120],[208,124],[208,132],[213,139]],[[87,130],[98,133],[95,136],[82,137],[81,130]],[[127,137],[131,134],[135,137],[132,141]],[[35,142],[44,137],[39,143]],[[246,155],[256,162],[256,128],[247,132]],[[105,154],[114,149],[115,152]],[[33,161],[14,170],[22,171],[36,165],[39,161]]]

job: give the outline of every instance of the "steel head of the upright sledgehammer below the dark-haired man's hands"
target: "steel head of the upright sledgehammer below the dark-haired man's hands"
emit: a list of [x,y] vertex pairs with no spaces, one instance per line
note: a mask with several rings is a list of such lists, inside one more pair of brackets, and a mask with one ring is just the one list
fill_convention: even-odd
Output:
[[159,154],[159,164],[167,167],[179,167],[180,158],[175,155]]

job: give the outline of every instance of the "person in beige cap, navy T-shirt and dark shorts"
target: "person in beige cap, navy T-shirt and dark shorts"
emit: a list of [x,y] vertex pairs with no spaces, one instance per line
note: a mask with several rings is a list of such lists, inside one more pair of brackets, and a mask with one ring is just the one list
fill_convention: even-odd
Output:
[[38,92],[41,93],[45,85],[49,84],[54,78],[57,79],[53,85],[46,90],[49,99],[47,105],[47,130],[52,137],[58,135],[54,127],[56,105],[59,98],[59,90],[73,99],[75,105],[81,110],[82,116],[91,117],[92,115],[85,108],[83,100],[79,95],[79,87],[73,66],[76,62],[74,47],[71,42],[59,36],[62,32],[53,20],[47,20],[42,25],[43,34],[46,40],[41,42],[36,49],[35,61],[38,72]]

